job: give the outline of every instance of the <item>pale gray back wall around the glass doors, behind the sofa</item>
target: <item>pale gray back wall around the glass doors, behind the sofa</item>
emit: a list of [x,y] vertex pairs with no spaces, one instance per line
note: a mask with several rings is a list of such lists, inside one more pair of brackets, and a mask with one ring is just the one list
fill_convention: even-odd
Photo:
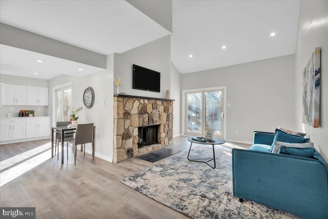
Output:
[[286,55],[181,74],[180,84],[181,90],[227,86],[227,140],[252,143],[253,131],[294,128],[294,72],[295,56]]

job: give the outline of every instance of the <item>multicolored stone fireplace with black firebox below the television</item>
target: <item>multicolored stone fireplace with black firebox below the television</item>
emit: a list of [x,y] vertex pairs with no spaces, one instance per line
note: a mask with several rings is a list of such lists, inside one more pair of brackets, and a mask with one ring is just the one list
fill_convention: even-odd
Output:
[[[114,95],[114,163],[173,144],[173,101]],[[152,144],[154,134],[157,143]]]

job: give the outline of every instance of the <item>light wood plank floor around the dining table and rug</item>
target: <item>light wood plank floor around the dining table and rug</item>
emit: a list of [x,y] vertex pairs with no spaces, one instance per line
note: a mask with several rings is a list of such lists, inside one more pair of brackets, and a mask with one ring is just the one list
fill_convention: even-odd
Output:
[[[31,150],[50,140],[0,146],[0,161]],[[189,150],[187,137],[174,138],[170,147]],[[234,145],[222,145],[231,148]],[[235,144],[243,148],[244,144]],[[119,182],[150,167],[137,158],[113,164],[72,149],[63,165],[50,158],[0,187],[1,207],[36,207],[36,218],[188,218]],[[49,150],[48,150],[49,152]],[[20,162],[24,164],[24,161]],[[7,168],[9,169],[9,168]],[[6,171],[2,170],[2,172]]]

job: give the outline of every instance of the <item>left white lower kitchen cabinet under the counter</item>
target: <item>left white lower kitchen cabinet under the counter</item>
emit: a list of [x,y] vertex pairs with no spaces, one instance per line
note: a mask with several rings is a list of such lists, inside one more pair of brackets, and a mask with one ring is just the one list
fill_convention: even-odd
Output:
[[2,118],[0,142],[25,138],[25,118]]

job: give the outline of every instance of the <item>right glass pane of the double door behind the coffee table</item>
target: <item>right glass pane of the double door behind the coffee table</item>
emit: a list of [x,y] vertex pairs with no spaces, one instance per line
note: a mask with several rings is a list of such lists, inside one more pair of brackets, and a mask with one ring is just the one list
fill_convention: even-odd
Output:
[[214,134],[221,135],[221,91],[205,92],[205,130],[214,129]]

